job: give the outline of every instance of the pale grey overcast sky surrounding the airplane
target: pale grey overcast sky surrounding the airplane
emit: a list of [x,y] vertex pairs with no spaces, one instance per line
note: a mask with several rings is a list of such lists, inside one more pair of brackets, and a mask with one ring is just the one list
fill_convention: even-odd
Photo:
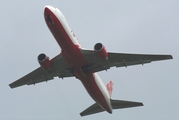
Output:
[[[82,0],[0,2],[1,120],[178,120],[179,1]],[[10,89],[8,84],[39,67],[60,48],[48,30],[45,5],[59,8],[84,48],[102,42],[108,51],[171,54],[173,60],[99,72],[114,83],[112,98],[143,102],[143,107],[94,114],[79,113],[94,101],[75,78],[55,79]]]

